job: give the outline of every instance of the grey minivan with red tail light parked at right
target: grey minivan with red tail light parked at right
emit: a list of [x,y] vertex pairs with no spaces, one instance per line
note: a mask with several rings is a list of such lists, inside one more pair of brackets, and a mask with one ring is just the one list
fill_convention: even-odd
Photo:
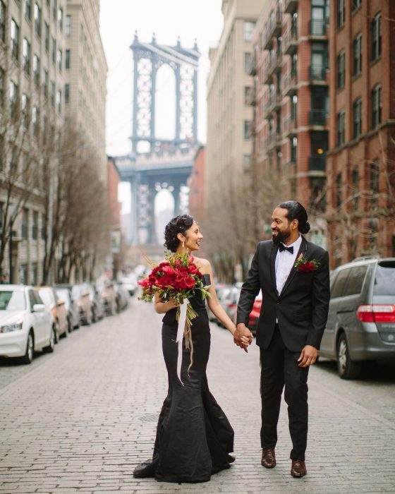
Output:
[[320,355],[341,378],[357,378],[363,361],[395,359],[395,258],[362,258],[336,268]]

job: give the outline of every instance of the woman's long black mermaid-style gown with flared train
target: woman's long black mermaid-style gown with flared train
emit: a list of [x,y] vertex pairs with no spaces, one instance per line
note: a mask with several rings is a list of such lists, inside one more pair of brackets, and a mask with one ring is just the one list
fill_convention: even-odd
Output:
[[210,331],[205,302],[200,292],[190,303],[197,312],[193,320],[193,365],[183,341],[181,380],[177,377],[176,309],[164,315],[162,349],[169,392],[159,414],[152,460],[136,467],[135,477],[155,477],[162,482],[205,482],[212,474],[228,469],[233,457],[233,428],[209,392],[206,367]]

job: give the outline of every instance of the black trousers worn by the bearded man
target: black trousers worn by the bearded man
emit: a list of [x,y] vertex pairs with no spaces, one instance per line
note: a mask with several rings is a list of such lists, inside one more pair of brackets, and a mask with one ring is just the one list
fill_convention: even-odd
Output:
[[279,327],[267,349],[260,349],[262,398],[261,446],[275,447],[279,421],[281,394],[288,404],[289,432],[291,433],[291,459],[305,459],[308,439],[308,367],[298,366],[300,352],[286,349]]

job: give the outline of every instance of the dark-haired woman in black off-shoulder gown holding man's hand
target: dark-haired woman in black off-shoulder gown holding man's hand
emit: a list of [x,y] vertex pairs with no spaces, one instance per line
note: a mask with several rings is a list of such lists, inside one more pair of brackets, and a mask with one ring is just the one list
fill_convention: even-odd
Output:
[[[198,251],[203,236],[189,215],[177,216],[166,225],[164,246],[174,253]],[[220,305],[214,289],[212,268],[208,260],[195,258],[195,264],[210,284],[212,313],[233,335],[236,327]],[[206,367],[209,359],[210,330],[205,301],[200,293],[190,300],[197,312],[191,327],[193,364],[190,351],[183,342],[181,380],[177,376],[178,347],[176,344],[176,302],[155,296],[155,311],[164,314],[162,320],[162,349],[169,379],[169,390],[159,414],[152,459],[138,465],[136,478],[154,477],[162,482],[205,482],[212,474],[228,469],[234,457],[233,428],[228,418],[209,392]],[[243,338],[247,351],[250,338]]]

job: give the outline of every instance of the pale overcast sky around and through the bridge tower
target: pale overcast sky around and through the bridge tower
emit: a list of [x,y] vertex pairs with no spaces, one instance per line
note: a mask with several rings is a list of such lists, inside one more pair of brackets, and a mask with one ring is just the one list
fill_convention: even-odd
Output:
[[[193,47],[195,38],[202,52],[199,69],[198,137],[206,138],[205,83],[209,70],[208,49],[219,40],[222,28],[221,0],[101,0],[100,23],[109,66],[107,79],[107,153],[130,152],[132,132],[133,62],[129,49],[134,32],[150,42]],[[170,137],[174,129],[174,76],[166,67],[157,80],[157,134]]]

